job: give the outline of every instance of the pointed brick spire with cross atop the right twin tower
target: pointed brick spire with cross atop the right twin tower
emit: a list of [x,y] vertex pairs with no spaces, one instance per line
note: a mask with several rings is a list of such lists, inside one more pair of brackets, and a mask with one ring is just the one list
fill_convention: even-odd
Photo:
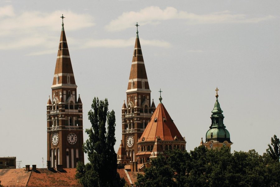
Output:
[[142,55],[140,40],[138,36],[138,23],[135,26],[137,26],[137,32],[127,92],[132,91],[132,89],[141,89],[145,90],[145,92],[151,92]]

